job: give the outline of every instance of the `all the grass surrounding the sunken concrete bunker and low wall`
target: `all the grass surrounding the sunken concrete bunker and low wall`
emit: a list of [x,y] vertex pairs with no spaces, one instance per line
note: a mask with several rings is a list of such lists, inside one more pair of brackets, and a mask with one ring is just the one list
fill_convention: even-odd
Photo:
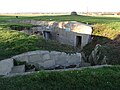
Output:
[[[74,52],[71,46],[54,41],[46,41],[11,30],[10,26],[27,27],[32,25],[8,23],[15,16],[0,16],[0,59],[32,50],[57,50]],[[107,63],[120,64],[120,17],[93,16],[20,16],[19,20],[79,21],[93,25],[93,41],[83,48],[89,55],[96,44],[101,44]],[[119,90],[120,66],[84,69],[63,72],[39,71],[31,75],[2,78],[0,90]]]

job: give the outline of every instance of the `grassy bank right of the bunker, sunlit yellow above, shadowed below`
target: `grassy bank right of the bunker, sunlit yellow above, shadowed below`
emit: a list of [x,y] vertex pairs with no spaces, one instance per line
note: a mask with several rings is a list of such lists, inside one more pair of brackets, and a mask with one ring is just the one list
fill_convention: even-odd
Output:
[[[117,28],[117,27],[116,27]],[[93,27],[93,40],[87,44],[83,52],[88,57],[96,44],[102,45],[102,55],[107,57],[108,64],[120,64],[120,32],[113,30],[106,25],[96,24]]]

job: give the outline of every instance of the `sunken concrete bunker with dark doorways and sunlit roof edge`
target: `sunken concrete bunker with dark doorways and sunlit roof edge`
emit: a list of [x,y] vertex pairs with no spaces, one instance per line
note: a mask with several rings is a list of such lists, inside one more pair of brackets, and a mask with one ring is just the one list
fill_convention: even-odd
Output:
[[62,44],[80,46],[83,48],[91,41],[92,27],[76,21],[36,21],[36,20],[16,20],[17,23],[27,23],[36,25],[28,30],[28,34],[41,35],[45,39],[58,41]]

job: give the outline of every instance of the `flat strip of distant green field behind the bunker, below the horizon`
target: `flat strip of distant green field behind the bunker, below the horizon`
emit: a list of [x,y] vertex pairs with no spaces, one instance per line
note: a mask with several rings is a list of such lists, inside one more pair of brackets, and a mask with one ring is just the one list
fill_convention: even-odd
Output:
[[[15,16],[0,16],[0,20],[16,19]],[[112,29],[120,30],[120,17],[95,17],[95,16],[71,16],[71,15],[57,15],[57,16],[19,16],[18,20],[33,19],[33,20],[45,20],[45,21],[78,21],[89,24],[104,24]],[[117,26],[117,27],[116,27]]]

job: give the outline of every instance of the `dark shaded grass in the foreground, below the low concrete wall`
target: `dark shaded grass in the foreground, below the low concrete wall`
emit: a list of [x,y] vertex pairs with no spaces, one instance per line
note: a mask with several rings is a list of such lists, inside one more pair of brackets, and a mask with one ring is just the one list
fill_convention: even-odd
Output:
[[120,66],[0,78],[0,90],[119,90]]

